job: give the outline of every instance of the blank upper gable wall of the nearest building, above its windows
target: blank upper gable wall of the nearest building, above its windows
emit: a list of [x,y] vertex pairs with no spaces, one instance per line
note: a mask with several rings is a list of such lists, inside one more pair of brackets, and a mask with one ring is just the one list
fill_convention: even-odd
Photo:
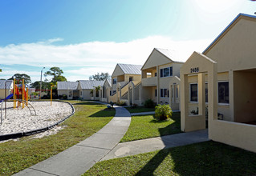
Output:
[[255,19],[242,18],[205,53],[217,62],[217,72],[256,67],[255,31]]

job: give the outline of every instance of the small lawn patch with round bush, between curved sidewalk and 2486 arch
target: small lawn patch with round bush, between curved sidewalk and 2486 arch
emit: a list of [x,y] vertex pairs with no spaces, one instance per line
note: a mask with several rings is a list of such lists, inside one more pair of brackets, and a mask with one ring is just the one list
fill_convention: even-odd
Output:
[[157,121],[152,115],[132,116],[132,122],[121,142],[181,133],[181,114],[173,113],[167,121]]

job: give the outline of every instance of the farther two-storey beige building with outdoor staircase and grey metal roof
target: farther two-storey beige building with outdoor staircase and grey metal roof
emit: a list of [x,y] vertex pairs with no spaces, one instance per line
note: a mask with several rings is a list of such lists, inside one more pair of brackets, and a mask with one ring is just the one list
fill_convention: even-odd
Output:
[[[140,104],[141,66],[132,64],[116,65],[112,74],[112,92],[108,102]],[[137,95],[137,96],[136,96]]]

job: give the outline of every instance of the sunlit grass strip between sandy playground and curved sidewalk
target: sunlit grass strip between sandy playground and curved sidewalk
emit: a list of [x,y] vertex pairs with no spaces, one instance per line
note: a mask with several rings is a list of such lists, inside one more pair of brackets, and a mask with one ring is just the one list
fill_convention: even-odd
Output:
[[61,126],[67,126],[58,134],[44,138],[23,137],[18,142],[0,143],[0,174],[11,175],[33,166],[76,143],[83,141],[105,126],[115,115],[115,110],[91,102],[73,103],[75,114]]

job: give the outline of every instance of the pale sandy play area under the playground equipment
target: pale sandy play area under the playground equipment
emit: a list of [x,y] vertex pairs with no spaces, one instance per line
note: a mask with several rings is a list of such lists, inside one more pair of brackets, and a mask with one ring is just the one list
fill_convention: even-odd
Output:
[[72,114],[71,106],[65,102],[52,102],[52,105],[51,102],[30,102],[30,104],[35,108],[36,116],[30,115],[30,110],[27,107],[14,109],[14,102],[7,102],[5,118],[5,104],[3,103],[3,120],[2,125],[0,125],[0,135],[26,132],[51,126]]

